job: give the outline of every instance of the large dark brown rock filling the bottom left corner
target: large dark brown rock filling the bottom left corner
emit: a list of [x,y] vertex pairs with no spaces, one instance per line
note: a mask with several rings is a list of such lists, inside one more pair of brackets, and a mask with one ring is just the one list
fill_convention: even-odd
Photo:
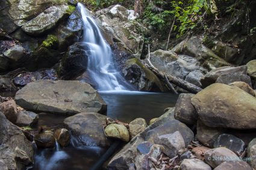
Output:
[[32,163],[34,151],[31,142],[1,112],[0,143],[0,168],[23,169]]

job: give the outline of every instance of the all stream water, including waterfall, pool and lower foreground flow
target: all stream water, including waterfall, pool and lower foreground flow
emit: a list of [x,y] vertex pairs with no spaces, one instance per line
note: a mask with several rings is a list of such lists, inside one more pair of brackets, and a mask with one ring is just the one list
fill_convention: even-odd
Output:
[[[107,116],[129,123],[135,118],[159,117],[165,108],[175,106],[177,96],[169,93],[143,93],[133,89],[114,67],[113,53],[102,37],[95,20],[83,4],[78,3],[84,25],[82,43],[89,50],[87,73],[96,89],[108,105]],[[66,116],[39,114],[37,127],[55,129],[63,126]],[[105,153],[107,148],[78,146],[75,138],[69,147],[39,148],[34,156],[34,166],[30,170],[86,170],[90,169]],[[103,168],[102,168],[103,169]]]

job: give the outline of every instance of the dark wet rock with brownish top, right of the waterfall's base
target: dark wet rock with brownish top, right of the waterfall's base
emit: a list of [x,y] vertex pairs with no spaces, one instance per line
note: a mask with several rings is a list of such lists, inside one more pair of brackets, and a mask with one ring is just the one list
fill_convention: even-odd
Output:
[[128,59],[122,68],[123,76],[139,91],[165,91],[161,81],[137,58]]

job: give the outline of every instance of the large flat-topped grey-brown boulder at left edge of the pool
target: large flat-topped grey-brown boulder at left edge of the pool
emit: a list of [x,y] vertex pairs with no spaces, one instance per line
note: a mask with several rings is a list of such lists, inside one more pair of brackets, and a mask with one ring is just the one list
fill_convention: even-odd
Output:
[[19,90],[15,100],[27,110],[56,114],[104,112],[107,107],[96,90],[78,81],[38,80]]

